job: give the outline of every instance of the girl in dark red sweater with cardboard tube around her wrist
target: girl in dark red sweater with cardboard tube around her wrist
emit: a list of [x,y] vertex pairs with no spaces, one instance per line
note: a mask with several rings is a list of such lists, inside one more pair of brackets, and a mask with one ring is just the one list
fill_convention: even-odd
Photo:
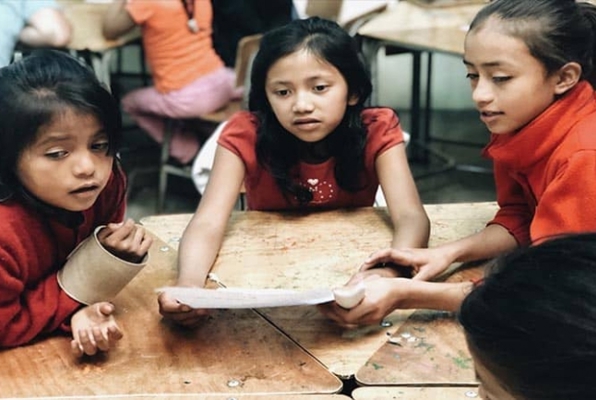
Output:
[[73,354],[106,351],[122,337],[103,297],[115,283],[106,271],[142,266],[151,244],[121,223],[118,105],[55,51],[0,69],[0,93],[0,348],[72,332]]

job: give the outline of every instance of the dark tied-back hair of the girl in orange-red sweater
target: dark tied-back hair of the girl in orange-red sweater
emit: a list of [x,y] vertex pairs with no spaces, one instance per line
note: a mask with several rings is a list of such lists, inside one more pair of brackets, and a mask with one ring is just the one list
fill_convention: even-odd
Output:
[[582,79],[596,86],[596,6],[574,0],[494,0],[482,8],[470,32],[490,18],[521,39],[550,75],[569,62],[582,67]]

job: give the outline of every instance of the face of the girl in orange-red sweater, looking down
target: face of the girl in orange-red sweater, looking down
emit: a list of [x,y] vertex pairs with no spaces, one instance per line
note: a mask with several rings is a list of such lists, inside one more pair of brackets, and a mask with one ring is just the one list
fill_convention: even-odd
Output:
[[559,76],[547,76],[526,44],[489,18],[468,33],[464,64],[480,119],[496,134],[524,127],[555,100]]

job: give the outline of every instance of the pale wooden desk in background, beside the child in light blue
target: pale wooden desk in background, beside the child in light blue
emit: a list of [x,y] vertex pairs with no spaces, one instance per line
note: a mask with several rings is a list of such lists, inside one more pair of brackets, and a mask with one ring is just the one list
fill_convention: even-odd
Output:
[[58,0],[72,26],[72,39],[68,48],[103,52],[141,37],[138,28],[116,40],[107,40],[101,32],[102,19],[109,3],[91,3],[83,0]]

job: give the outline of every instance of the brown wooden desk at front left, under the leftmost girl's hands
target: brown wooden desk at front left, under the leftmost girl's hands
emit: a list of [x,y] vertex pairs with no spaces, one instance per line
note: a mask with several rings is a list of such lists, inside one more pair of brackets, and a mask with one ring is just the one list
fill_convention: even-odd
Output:
[[171,284],[175,259],[156,240],[149,265],[114,299],[125,336],[109,353],[74,359],[68,337],[0,351],[0,397],[291,398],[341,390],[337,377],[253,310],[218,310],[193,331],[164,323],[154,289]]

